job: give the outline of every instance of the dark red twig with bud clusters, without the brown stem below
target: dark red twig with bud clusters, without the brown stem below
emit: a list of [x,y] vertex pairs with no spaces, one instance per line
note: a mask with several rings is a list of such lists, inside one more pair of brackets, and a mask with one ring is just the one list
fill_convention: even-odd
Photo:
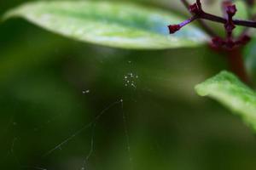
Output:
[[[168,26],[170,34],[179,31],[183,26],[188,25],[189,23],[193,22],[194,20],[199,20],[201,26],[205,28],[207,33],[212,37],[212,47],[213,48],[227,48],[232,49],[239,47],[241,45],[247,44],[250,41],[250,37],[247,36],[247,29],[246,31],[242,32],[239,37],[233,37],[232,33],[236,26],[246,26],[246,27],[256,27],[256,22],[251,20],[234,20],[233,17],[235,16],[237,9],[236,5],[233,4],[231,1],[224,1],[223,8],[224,8],[224,17],[219,17],[214,14],[207,14],[203,11],[201,7],[201,1],[196,0],[196,3],[189,5],[186,0],[181,0],[183,4],[189,8],[189,12],[192,17],[189,20],[184,20],[182,23],[178,25],[171,25]],[[226,31],[226,37],[218,37],[214,31],[211,30],[202,20],[211,20],[214,22],[224,24],[224,29]]]

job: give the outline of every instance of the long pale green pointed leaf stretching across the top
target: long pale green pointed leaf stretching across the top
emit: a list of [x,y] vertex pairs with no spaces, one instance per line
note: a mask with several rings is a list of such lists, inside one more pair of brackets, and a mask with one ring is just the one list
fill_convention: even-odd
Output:
[[116,48],[195,47],[208,41],[207,35],[194,26],[169,35],[167,26],[183,19],[172,13],[131,3],[26,3],[4,15],[4,19],[10,17],[23,17],[75,40]]

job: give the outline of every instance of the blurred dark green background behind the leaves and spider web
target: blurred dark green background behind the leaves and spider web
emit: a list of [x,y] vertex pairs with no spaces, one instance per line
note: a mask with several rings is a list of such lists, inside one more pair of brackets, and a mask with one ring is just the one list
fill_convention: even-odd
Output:
[[[187,14],[179,1],[133,1]],[[25,2],[2,0],[0,14]],[[207,46],[130,51],[1,23],[0,169],[255,169],[253,132],[194,92],[223,69]]]

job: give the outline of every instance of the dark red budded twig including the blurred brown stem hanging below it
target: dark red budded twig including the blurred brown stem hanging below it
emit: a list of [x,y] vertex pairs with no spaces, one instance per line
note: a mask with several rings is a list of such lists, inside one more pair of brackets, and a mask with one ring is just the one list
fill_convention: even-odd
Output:
[[[185,20],[178,25],[168,26],[170,33],[175,33],[183,26],[188,25],[194,20],[199,20],[201,26],[207,30],[207,33],[212,36],[211,46],[213,49],[223,51],[230,64],[230,69],[241,78],[243,82],[249,84],[249,78],[247,77],[247,71],[244,66],[243,58],[241,55],[241,45],[245,45],[250,41],[250,37],[247,36],[248,28],[256,28],[256,22],[253,20],[234,20],[233,16],[236,14],[236,5],[231,0],[223,1],[224,17],[217,16],[215,14],[208,14],[204,12],[201,7],[201,0],[196,0],[196,3],[189,5],[188,0],[181,0],[183,5],[189,9],[192,17],[189,20]],[[254,1],[247,1],[247,4],[251,4]],[[208,27],[203,20],[210,20],[224,24],[227,37],[225,39],[216,37],[214,31]],[[247,29],[238,38],[232,36],[233,30],[236,26],[245,26]]]

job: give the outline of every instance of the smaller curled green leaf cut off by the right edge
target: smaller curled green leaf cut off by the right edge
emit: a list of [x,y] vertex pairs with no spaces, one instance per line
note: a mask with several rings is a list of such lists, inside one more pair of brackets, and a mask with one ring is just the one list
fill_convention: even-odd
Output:
[[226,105],[256,130],[256,94],[232,73],[222,71],[197,85],[195,90],[201,96],[209,96]]

